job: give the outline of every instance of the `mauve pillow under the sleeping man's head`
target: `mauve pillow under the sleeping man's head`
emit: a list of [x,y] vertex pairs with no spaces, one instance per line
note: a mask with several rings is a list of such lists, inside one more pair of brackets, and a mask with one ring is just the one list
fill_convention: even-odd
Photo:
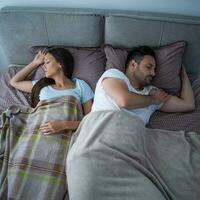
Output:
[[[156,76],[152,85],[170,94],[178,94],[181,89],[180,70],[186,42],[178,41],[165,46],[154,48],[156,54]],[[105,45],[106,70],[117,68],[124,72],[128,52],[131,49],[113,48]]]

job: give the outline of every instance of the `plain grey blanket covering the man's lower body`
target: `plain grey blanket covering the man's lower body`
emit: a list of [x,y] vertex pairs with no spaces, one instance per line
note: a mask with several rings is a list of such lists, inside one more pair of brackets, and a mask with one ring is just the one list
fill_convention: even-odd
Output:
[[149,129],[125,111],[102,111],[86,116],[76,135],[67,158],[71,200],[200,199],[200,133]]

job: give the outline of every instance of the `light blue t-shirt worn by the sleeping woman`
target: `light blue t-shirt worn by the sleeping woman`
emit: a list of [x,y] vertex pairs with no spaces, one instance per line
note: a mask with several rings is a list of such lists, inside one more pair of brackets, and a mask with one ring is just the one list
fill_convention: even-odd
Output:
[[[59,90],[53,88],[51,85],[43,87],[40,91],[39,99],[46,100],[61,96],[74,96],[83,104],[94,97],[92,89],[84,80],[73,78],[72,81],[76,84],[76,87],[72,89]],[[32,81],[33,85],[36,82],[37,80]]]

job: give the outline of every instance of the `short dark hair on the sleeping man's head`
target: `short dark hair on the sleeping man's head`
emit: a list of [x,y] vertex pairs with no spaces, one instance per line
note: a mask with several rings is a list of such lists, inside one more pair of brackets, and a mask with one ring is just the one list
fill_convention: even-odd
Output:
[[128,65],[131,60],[135,60],[138,64],[140,64],[144,56],[152,56],[156,60],[156,55],[151,47],[139,46],[133,48],[127,55],[125,70],[128,68]]

